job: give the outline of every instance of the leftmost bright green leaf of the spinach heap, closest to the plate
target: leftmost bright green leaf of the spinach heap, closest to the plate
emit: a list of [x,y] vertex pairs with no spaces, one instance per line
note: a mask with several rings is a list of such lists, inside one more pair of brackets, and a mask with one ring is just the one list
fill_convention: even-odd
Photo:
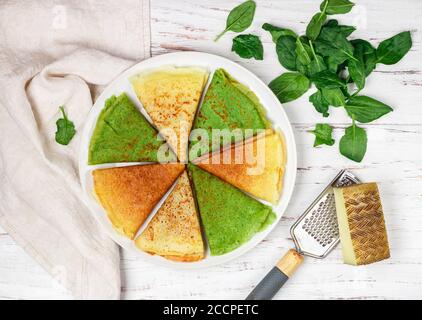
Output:
[[268,85],[281,103],[296,100],[308,91],[309,79],[297,72],[286,72]]

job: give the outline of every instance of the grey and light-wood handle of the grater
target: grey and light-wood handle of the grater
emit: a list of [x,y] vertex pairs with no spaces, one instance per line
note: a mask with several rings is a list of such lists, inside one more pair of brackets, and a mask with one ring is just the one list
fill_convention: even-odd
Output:
[[301,265],[303,257],[290,249],[246,297],[246,300],[270,300]]

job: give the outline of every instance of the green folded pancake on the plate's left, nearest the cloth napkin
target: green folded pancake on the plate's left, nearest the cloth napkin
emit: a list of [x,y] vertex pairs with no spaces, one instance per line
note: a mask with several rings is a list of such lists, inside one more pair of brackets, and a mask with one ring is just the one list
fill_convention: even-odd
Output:
[[169,162],[176,156],[129,97],[107,99],[89,145],[90,165],[114,162]]

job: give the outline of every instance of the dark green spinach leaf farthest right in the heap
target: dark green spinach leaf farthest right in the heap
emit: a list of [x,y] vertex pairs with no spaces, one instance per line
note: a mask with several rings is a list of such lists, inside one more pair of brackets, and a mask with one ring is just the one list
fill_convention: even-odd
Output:
[[382,41],[377,48],[378,62],[383,64],[395,64],[409,52],[412,47],[412,37],[409,31],[396,34]]

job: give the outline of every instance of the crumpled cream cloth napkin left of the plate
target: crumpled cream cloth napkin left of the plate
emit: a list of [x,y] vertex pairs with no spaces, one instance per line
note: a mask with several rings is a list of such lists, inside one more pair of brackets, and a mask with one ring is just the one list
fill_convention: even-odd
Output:
[[[149,56],[149,1],[0,3],[0,224],[77,299],[118,299],[118,247],[84,203],[77,159],[95,95]],[[64,105],[77,133],[56,143]]]

